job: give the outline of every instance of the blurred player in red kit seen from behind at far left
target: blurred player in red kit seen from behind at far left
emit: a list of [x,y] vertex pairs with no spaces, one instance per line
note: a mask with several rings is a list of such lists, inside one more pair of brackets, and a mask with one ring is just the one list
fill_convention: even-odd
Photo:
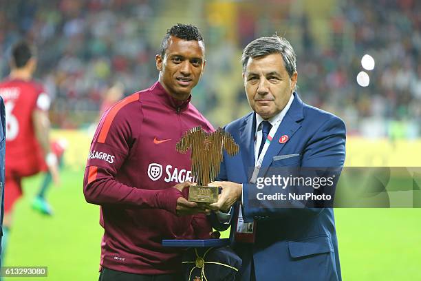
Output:
[[36,69],[34,48],[21,41],[13,46],[10,76],[0,83],[6,107],[6,179],[3,251],[12,225],[14,203],[22,195],[21,180],[48,169],[59,184],[57,157],[50,150],[50,97],[32,79]]

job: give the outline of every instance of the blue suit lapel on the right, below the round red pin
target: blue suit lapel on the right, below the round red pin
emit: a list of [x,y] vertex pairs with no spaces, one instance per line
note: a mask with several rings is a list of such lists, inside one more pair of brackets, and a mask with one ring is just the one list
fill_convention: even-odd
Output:
[[301,121],[303,118],[303,102],[299,98],[298,94],[294,92],[294,101],[292,101],[290,109],[283,118],[277,132],[270,142],[268,151],[261,163],[262,168],[260,169],[259,176],[266,174],[266,170],[272,163],[273,156],[279,155],[279,152],[281,152],[281,149],[285,146],[285,143],[279,143],[279,138],[286,135],[288,136],[288,141],[291,141],[295,132],[301,127]]

